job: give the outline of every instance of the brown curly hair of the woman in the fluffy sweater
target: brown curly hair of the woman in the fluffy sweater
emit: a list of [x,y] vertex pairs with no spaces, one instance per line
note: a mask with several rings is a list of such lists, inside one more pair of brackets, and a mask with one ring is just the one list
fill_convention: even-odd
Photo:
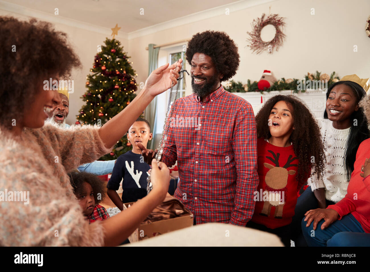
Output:
[[82,65],[67,34],[51,23],[0,16],[0,40],[0,125],[9,129],[24,118],[44,80],[69,79]]

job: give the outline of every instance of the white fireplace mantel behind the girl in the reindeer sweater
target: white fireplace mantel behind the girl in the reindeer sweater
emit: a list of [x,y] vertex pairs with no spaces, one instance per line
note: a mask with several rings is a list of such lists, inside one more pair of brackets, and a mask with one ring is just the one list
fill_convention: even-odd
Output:
[[[325,103],[326,103],[326,90],[306,90],[305,93],[293,93],[293,90],[283,90],[283,91],[270,91],[263,92],[246,92],[246,93],[233,93],[239,97],[244,98],[248,101],[252,107],[255,115],[258,113],[262,105],[271,97],[277,94],[283,95],[296,95],[298,98],[303,100],[309,110],[312,112],[315,118],[324,117]],[[262,103],[261,103],[262,96]]]

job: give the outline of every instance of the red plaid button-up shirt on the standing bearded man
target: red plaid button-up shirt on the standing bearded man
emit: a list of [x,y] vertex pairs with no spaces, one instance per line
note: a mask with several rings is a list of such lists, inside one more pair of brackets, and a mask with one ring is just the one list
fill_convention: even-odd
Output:
[[252,106],[221,85],[205,102],[191,94],[172,107],[162,161],[170,167],[177,160],[180,182],[174,196],[196,223],[245,226],[259,183]]

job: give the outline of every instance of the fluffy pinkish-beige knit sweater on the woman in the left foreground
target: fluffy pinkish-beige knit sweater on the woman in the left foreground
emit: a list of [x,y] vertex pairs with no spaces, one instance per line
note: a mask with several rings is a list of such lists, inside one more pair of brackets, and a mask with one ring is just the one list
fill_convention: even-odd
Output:
[[[29,204],[0,201],[0,246],[101,246],[101,222],[84,219],[67,172],[107,154],[99,127],[0,129],[0,191],[29,191]],[[1,192],[0,192],[1,193]]]

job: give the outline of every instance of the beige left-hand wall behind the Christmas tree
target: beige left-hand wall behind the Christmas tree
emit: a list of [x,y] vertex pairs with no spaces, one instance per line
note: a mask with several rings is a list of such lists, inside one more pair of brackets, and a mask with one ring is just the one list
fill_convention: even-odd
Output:
[[[21,20],[28,20],[27,16],[11,13],[0,9],[0,16],[14,16]],[[66,119],[67,124],[74,124],[76,115],[79,113],[84,101],[80,98],[87,88],[85,87],[86,76],[90,72],[94,63],[94,56],[97,53],[97,46],[104,44],[105,38],[109,35],[85,30],[79,27],[71,27],[61,23],[53,23],[56,30],[63,31],[68,34],[68,40],[74,47],[75,52],[80,57],[82,68],[74,70],[71,79],[74,80],[74,93],[70,94],[70,113]],[[128,40],[116,37],[121,41],[124,50],[128,51]]]

